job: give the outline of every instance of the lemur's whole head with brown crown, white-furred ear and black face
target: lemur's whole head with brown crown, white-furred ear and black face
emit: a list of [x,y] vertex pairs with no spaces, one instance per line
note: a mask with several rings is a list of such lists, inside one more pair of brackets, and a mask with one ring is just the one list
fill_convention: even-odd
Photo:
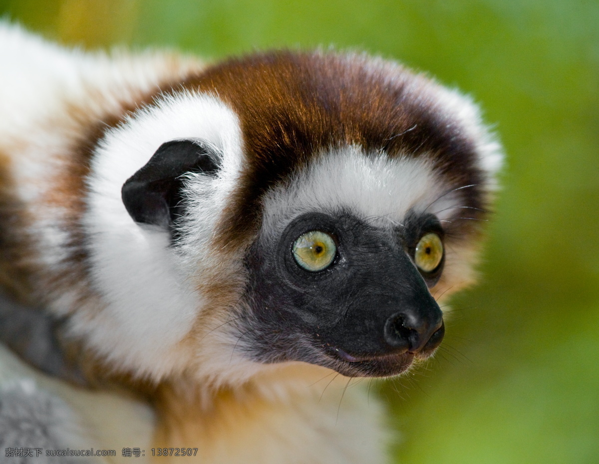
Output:
[[[137,235],[167,237],[180,276],[177,293],[160,281],[140,296],[174,295],[155,322],[170,339],[138,365],[155,351],[213,377],[287,361],[379,377],[430,356],[444,335],[435,296],[471,281],[501,159],[476,107],[422,75],[286,52],[163,90],[102,150],[139,153],[120,177],[126,239],[142,250]],[[118,180],[109,162],[96,171],[98,192]],[[97,276],[106,287],[111,265]]]

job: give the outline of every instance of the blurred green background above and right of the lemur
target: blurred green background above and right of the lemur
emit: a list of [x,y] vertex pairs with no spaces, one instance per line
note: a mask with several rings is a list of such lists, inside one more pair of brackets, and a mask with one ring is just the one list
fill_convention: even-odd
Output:
[[440,353],[379,386],[392,453],[599,462],[599,2],[0,0],[0,14],[87,48],[359,48],[470,93],[505,145],[503,191]]

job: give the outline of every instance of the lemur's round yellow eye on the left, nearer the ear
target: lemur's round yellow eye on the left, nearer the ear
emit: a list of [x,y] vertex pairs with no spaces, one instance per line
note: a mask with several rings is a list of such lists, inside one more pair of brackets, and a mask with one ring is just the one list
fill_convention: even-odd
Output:
[[336,253],[335,242],[326,232],[306,232],[294,243],[295,261],[306,271],[317,272],[328,268]]

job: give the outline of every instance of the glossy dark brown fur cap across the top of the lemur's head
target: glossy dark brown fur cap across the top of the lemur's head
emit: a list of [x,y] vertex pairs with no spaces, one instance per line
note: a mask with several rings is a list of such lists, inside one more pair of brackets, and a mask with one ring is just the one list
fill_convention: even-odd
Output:
[[[400,66],[361,56],[286,51],[229,60],[187,78],[183,87],[216,92],[231,105],[246,144],[247,168],[216,247],[247,246],[259,226],[261,196],[336,145],[391,157],[426,154],[456,187],[481,184],[473,141],[438,114],[434,96],[426,98],[429,85]],[[482,206],[477,190],[469,192],[470,207]]]

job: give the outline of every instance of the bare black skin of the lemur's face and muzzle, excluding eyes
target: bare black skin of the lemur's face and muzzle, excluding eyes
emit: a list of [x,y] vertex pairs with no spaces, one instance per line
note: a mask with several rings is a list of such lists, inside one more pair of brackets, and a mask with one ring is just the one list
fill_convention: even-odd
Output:
[[[295,261],[295,240],[308,231],[329,233],[335,259],[319,272]],[[352,377],[400,374],[414,357],[428,357],[444,335],[443,314],[428,287],[429,273],[413,263],[425,233],[443,230],[432,215],[410,213],[393,231],[349,213],[305,214],[275,245],[258,241],[246,265],[249,313],[244,350],[259,362],[299,360]]]

